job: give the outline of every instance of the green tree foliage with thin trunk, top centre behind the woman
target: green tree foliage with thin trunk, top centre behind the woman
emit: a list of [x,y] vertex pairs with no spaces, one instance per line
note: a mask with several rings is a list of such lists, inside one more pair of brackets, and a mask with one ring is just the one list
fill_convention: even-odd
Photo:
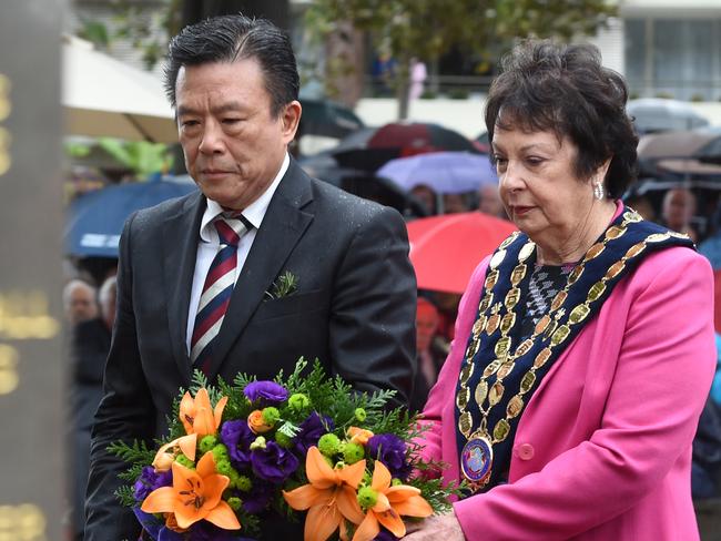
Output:
[[407,114],[410,59],[438,59],[451,47],[488,54],[519,38],[591,34],[617,13],[607,0],[315,0],[307,23],[321,35],[351,22],[396,60],[399,116]]

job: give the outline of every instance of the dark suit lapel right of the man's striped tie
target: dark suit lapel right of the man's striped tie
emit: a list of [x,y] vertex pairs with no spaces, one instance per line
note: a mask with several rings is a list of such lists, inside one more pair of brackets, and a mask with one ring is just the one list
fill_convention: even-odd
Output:
[[313,200],[311,180],[291,160],[271,200],[263,223],[237,278],[225,319],[213,346],[209,378],[215,377],[231,347],[241,336],[291,251],[313,221],[304,207]]

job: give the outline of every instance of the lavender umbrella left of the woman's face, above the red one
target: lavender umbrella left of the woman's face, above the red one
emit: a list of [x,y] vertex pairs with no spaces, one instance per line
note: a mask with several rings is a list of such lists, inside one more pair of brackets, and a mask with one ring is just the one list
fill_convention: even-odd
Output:
[[498,177],[484,154],[433,152],[390,160],[376,173],[406,191],[425,184],[440,194],[477,192],[481,184],[498,184]]

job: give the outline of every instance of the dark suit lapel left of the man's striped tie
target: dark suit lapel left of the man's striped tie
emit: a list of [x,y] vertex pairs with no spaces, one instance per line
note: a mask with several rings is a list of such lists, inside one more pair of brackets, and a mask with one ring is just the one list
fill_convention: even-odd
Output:
[[184,387],[189,387],[191,382],[191,361],[185,346],[187,312],[204,211],[205,198],[199,191],[185,200],[177,214],[166,218],[163,229],[163,275],[167,300],[167,325],[173,357],[183,377]]

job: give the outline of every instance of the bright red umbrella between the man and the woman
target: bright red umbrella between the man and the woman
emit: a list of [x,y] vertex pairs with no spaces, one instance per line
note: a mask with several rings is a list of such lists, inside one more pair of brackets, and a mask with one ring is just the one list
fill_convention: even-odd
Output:
[[409,222],[418,288],[463,293],[478,263],[515,229],[512,223],[479,212]]

